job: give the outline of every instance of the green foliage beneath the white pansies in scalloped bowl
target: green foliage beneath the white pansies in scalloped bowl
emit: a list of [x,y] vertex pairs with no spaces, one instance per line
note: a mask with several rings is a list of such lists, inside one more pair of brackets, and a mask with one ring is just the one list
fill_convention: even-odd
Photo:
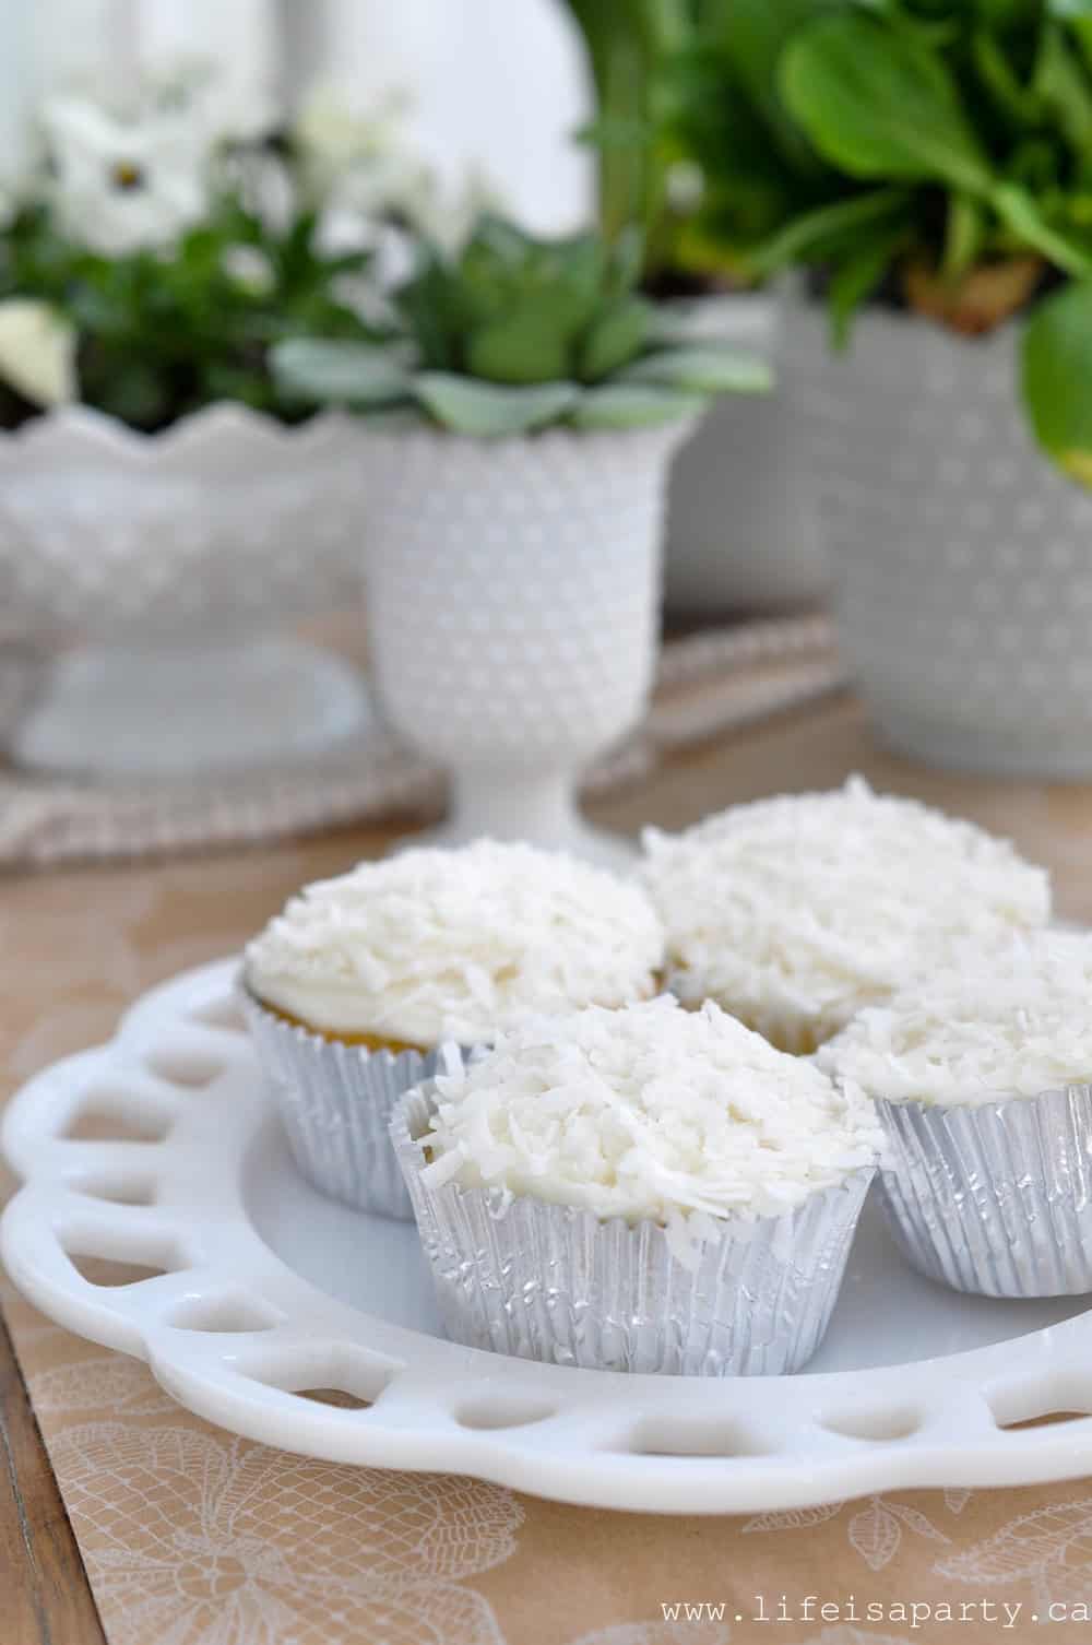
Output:
[[79,334],[81,400],[133,428],[222,398],[293,419],[304,408],[275,380],[270,350],[286,337],[367,337],[339,296],[367,262],[324,255],[309,212],[271,229],[232,194],[171,250],[118,257],[74,245],[41,206],[0,237],[0,299],[35,296],[64,314]]

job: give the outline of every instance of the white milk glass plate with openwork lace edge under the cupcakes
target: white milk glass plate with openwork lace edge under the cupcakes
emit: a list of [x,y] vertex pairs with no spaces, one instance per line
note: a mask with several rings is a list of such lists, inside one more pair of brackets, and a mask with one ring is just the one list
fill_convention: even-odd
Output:
[[[796,1377],[627,1377],[444,1341],[413,1226],[326,1201],[291,1168],[235,969],[148,994],[110,1045],[31,1081],[2,1133],[25,1178],[0,1226],[13,1281],[145,1359],[189,1410],[306,1456],[658,1513],[1092,1472],[1090,1300],[957,1296],[913,1273],[872,1211]],[[90,1283],[82,1258],[156,1273]]]

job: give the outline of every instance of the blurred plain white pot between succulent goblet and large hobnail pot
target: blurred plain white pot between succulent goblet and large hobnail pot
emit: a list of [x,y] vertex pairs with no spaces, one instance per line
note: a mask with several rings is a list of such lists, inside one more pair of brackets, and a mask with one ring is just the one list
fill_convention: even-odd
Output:
[[714,400],[679,451],[668,487],[668,605],[778,612],[819,602],[829,568],[804,461],[794,332],[781,294],[701,298],[682,309],[697,341],[766,355],[770,395]]

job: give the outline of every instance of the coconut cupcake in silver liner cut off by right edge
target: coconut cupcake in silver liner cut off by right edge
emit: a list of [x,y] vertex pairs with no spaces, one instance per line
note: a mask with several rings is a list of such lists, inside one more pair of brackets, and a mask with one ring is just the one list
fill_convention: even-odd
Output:
[[877,1102],[906,1257],[983,1296],[1092,1291],[1092,938],[1039,931],[873,1007],[819,1053]]

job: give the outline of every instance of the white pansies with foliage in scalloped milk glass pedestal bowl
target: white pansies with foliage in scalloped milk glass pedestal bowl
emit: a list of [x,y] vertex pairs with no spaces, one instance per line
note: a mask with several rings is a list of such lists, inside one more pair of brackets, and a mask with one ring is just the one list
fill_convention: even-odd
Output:
[[355,670],[278,633],[359,594],[352,424],[268,362],[375,334],[382,224],[423,183],[390,122],[308,102],[240,135],[215,94],[46,102],[0,222],[0,637],[69,642],[15,732],[39,768],[281,760],[365,712]]

